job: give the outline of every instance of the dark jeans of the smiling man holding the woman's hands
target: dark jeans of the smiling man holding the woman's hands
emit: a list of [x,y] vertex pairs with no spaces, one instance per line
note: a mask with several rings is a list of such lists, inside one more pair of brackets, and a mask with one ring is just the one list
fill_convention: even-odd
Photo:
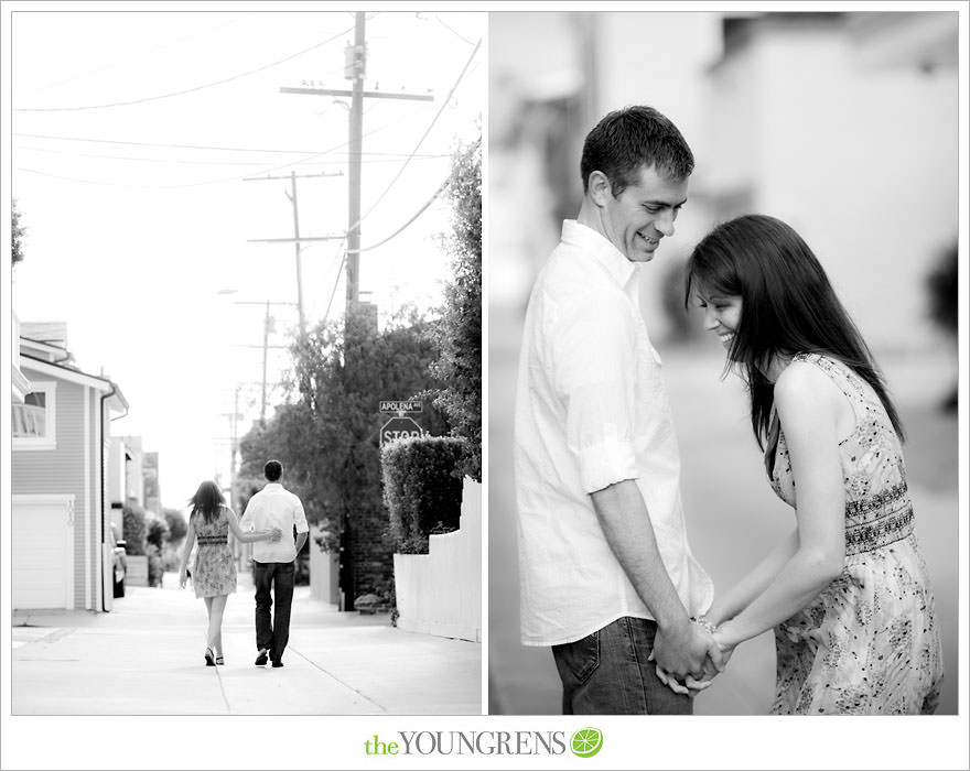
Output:
[[657,625],[625,616],[582,640],[552,647],[563,715],[692,715],[693,699],[673,693],[647,661]]

